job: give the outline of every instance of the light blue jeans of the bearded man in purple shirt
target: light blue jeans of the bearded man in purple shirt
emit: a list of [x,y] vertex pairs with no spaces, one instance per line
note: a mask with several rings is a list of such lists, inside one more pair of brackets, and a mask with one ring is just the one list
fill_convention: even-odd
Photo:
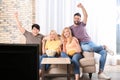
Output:
[[99,69],[104,70],[106,57],[107,57],[107,51],[104,49],[103,46],[97,46],[92,41],[89,42],[81,42],[81,47],[83,51],[89,51],[89,52],[96,52],[101,55],[100,61],[99,61]]

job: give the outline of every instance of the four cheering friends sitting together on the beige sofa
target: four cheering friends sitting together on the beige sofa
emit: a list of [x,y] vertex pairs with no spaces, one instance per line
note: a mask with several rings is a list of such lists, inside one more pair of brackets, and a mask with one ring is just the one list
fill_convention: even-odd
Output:
[[[74,74],[75,80],[80,79],[80,63],[79,60],[83,57],[82,52],[96,52],[101,55],[99,60],[99,72],[98,78],[110,79],[111,77],[107,76],[104,71],[104,66],[106,62],[107,53],[114,55],[114,52],[106,45],[96,45],[88,35],[86,31],[86,23],[88,14],[84,6],[79,3],[77,5],[83,12],[83,20],[81,20],[81,14],[74,14],[74,24],[65,27],[62,30],[61,35],[58,35],[55,30],[51,30],[48,36],[40,34],[40,26],[38,24],[32,25],[32,31],[27,31],[20,23],[18,19],[18,13],[14,14],[15,20],[17,23],[18,29],[26,38],[26,44],[39,44],[40,46],[40,57],[39,57],[39,75],[42,74],[42,64],[41,61],[46,57],[68,57],[71,60],[71,63],[74,65]],[[50,64],[45,66],[45,69],[48,70]]]

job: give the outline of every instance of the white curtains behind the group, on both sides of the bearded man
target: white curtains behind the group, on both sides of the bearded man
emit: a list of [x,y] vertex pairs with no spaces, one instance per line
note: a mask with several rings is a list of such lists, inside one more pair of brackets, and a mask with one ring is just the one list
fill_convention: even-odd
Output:
[[116,52],[116,0],[36,0],[40,32],[48,34],[54,29],[61,34],[64,27],[73,24],[74,13],[81,13],[76,7],[79,2],[88,12],[86,28],[92,40]]

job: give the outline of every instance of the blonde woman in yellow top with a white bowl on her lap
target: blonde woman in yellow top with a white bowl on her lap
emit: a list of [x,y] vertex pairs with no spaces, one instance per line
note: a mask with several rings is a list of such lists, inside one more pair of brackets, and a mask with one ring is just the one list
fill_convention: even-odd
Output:
[[[46,57],[49,57],[49,58],[56,57],[56,55],[59,54],[61,51],[61,48],[60,48],[61,41],[55,30],[51,30],[50,34],[47,36],[47,38],[44,38],[42,42],[43,42],[43,48],[42,48],[43,54],[39,58],[40,59],[40,66],[39,66],[40,76],[41,76],[41,68],[42,68],[42,65],[41,65],[42,59]],[[47,64],[45,66],[45,69],[47,70],[49,67],[50,65]]]

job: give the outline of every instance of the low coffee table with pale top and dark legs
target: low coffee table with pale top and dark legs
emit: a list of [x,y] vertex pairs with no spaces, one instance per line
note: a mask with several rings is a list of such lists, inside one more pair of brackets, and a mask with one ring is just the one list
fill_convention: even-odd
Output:
[[[43,73],[42,73],[42,80],[45,80],[45,77],[47,76],[61,76],[61,77],[67,77],[67,80],[70,80],[70,71],[69,71],[69,65],[71,64],[71,61],[69,58],[43,58],[41,64],[43,65]],[[67,65],[67,74],[47,74],[45,73],[45,64],[65,64]]]

